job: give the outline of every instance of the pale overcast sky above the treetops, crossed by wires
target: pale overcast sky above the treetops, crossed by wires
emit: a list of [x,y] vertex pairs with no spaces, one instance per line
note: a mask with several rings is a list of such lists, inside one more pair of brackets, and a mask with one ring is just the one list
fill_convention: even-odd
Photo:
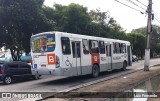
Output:
[[[137,2],[137,0],[118,0],[123,2],[133,8],[136,8],[142,12],[145,12],[144,5]],[[134,3],[138,4],[140,7],[144,8],[141,9],[134,4],[130,3],[129,1],[133,1]],[[138,0],[145,5],[148,5],[148,0]],[[160,0],[152,0],[153,5],[153,12],[156,14],[155,17],[158,21],[153,20],[152,24],[156,24],[160,26]],[[110,16],[113,17],[121,27],[126,30],[127,32],[132,31],[132,29],[144,27],[147,25],[147,14],[141,14],[139,11],[133,10],[129,7],[126,7],[115,0],[45,0],[44,5],[53,7],[53,4],[62,4],[62,5],[69,5],[70,3],[77,3],[83,5],[84,7],[88,8],[88,11],[100,9],[102,12],[109,11]]]

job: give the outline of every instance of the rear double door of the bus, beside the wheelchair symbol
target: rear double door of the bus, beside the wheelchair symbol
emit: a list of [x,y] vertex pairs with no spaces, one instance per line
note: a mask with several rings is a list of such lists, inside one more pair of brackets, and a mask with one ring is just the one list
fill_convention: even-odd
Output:
[[72,70],[73,76],[81,75],[81,43],[80,41],[72,41]]

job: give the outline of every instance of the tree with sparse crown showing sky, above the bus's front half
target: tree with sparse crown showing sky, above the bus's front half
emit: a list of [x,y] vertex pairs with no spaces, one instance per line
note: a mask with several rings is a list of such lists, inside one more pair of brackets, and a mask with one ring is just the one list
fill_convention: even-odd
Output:
[[117,24],[114,18],[110,17],[109,11],[101,12],[100,9],[91,10],[89,12],[92,18],[92,24],[99,26],[94,32],[98,32],[96,35],[114,39],[125,39],[125,31]]

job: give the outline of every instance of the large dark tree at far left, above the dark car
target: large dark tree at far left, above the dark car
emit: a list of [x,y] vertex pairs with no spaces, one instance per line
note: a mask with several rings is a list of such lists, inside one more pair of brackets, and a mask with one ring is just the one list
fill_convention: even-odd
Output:
[[0,0],[0,45],[11,50],[13,60],[19,60],[21,50],[30,51],[32,34],[53,29],[54,24],[43,13],[43,2]]

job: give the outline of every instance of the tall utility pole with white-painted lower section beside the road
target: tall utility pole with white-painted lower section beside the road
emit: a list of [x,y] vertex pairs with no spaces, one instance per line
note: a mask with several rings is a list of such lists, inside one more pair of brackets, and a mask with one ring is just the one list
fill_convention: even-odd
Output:
[[148,8],[148,22],[147,22],[147,38],[146,38],[146,49],[145,49],[145,61],[144,61],[144,71],[149,71],[150,63],[150,35],[151,35],[151,21],[152,21],[152,0],[149,0]]

